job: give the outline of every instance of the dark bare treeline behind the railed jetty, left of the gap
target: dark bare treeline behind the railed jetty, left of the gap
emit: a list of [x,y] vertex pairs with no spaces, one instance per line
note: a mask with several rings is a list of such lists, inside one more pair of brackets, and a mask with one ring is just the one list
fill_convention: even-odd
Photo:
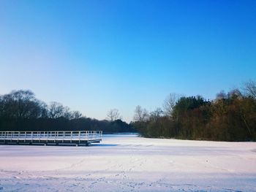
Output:
[[12,91],[0,96],[0,131],[135,131],[119,119],[117,110],[110,110],[108,115],[110,120],[86,118],[58,102],[45,104],[31,91]]

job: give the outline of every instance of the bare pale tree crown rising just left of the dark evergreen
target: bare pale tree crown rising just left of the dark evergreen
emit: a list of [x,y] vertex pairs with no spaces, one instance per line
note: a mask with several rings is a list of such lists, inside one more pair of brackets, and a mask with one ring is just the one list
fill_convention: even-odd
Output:
[[173,108],[175,107],[178,99],[181,98],[181,95],[177,94],[177,93],[170,93],[163,104],[163,112],[166,116],[172,118],[173,116]]

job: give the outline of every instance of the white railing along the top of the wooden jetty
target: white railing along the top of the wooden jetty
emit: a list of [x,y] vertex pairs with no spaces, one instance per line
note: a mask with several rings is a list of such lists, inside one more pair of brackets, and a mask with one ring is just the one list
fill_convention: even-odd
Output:
[[102,131],[0,131],[1,140],[91,141],[102,139]]

